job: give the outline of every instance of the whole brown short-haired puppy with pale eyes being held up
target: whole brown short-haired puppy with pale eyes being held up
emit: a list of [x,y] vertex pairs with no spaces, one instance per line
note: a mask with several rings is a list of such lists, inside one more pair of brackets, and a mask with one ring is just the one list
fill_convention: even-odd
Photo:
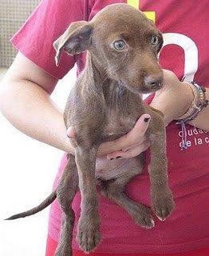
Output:
[[71,255],[74,222],[71,202],[78,185],[82,201],[77,242],[82,250],[92,251],[100,242],[96,181],[102,194],[127,210],[139,226],[154,226],[148,207],[132,202],[124,194],[127,182],[142,172],[144,155],[128,162],[124,159],[110,162],[105,158],[96,161],[101,143],[127,134],[144,113],[151,115],[146,135],[151,145],[152,210],[161,220],[172,212],[164,120],[159,111],[144,105],[140,97],[163,85],[163,72],[157,62],[162,44],[162,35],[152,22],[126,4],[107,6],[90,22],[74,22],[54,42],[57,64],[62,50],[69,54],[88,50],[85,70],[70,92],[64,114],[66,127],[73,126],[75,133],[72,140],[75,157],[69,154],[60,185],[49,198],[33,210],[10,219],[35,214],[57,197],[63,212],[57,256]]

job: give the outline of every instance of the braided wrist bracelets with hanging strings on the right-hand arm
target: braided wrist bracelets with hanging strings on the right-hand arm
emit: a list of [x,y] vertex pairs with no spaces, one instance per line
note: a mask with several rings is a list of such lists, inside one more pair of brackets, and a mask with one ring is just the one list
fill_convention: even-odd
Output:
[[208,106],[208,100],[206,99],[205,88],[199,86],[195,82],[190,82],[188,84],[194,94],[194,100],[191,102],[190,108],[185,114],[180,116],[176,124],[180,124],[182,128],[182,143],[181,150],[187,149],[187,130],[185,124],[197,117],[199,112],[203,110],[204,107]]

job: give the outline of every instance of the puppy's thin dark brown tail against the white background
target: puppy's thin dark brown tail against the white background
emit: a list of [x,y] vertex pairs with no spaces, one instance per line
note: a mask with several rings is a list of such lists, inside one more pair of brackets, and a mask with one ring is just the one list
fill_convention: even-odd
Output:
[[31,210],[24,211],[21,214],[15,214],[11,216],[10,218],[6,218],[5,220],[13,220],[16,218],[25,218],[27,216],[37,214],[39,211],[45,209],[45,207],[49,206],[55,199],[57,198],[57,190],[53,191],[52,194],[49,195],[48,198],[46,198],[39,206],[34,207]]

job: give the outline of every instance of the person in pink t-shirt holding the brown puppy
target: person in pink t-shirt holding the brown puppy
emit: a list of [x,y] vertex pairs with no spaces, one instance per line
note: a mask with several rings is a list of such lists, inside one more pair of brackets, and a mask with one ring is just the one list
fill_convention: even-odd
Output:
[[[124,1],[44,0],[14,35],[12,42],[19,52],[0,86],[0,110],[19,130],[73,154],[73,147],[66,136],[62,113],[49,95],[58,80],[75,63],[78,73],[81,72],[85,65],[85,54],[63,54],[60,66],[56,67],[53,42],[71,22],[90,20],[104,6],[115,2]],[[89,255],[201,256],[209,253],[209,108],[203,107],[200,111],[195,111],[193,106],[198,107],[203,102],[199,99],[200,92],[196,90],[195,85],[188,82],[194,80],[205,87],[209,82],[207,1],[195,8],[194,0],[181,2],[179,5],[174,5],[173,2],[141,1],[139,7],[140,10],[152,10],[155,13],[156,26],[164,33],[166,46],[161,51],[160,63],[168,69],[164,70],[165,86],[147,101],[164,113],[164,120],[168,125],[168,174],[174,194],[175,211],[165,222],[156,220],[156,226],[152,230],[143,230],[132,222],[124,210],[100,197],[102,241],[97,250]],[[132,1],[128,3],[132,4]],[[200,15],[201,22],[194,19]],[[199,30],[199,26],[202,30]],[[185,82],[179,82],[184,75]],[[207,88],[205,95],[209,98]],[[30,118],[26,118],[28,112]],[[191,115],[192,118],[189,118]],[[98,157],[107,155],[109,159],[132,158],[147,150],[149,145],[144,133],[148,128],[149,119],[148,114],[142,115],[127,135],[114,142],[102,144]],[[177,119],[182,120],[179,125],[174,121]],[[69,130],[68,135],[72,137],[73,130]],[[64,155],[54,187],[57,186],[65,163]],[[134,201],[150,206],[147,167],[143,174],[128,183],[127,193]],[[73,201],[76,221],[80,213],[80,203],[80,194],[77,194]],[[57,202],[53,202],[49,217],[46,250],[48,256],[54,254],[57,246],[60,220],[59,206]],[[84,255],[75,238],[73,255]]]

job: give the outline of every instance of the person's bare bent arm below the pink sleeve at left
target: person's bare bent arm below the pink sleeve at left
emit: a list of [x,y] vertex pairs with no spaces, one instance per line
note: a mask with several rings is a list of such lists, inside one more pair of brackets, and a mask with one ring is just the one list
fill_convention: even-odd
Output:
[[49,97],[58,79],[18,53],[0,84],[0,110],[23,133],[73,152],[61,110]]

